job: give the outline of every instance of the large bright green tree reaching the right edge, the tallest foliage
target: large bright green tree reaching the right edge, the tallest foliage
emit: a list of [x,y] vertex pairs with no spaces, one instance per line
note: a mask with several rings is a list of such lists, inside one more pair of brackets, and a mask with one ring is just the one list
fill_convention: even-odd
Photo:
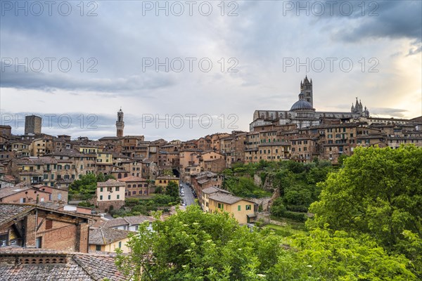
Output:
[[320,183],[307,226],[370,235],[404,254],[422,278],[422,148],[357,148],[338,173]]

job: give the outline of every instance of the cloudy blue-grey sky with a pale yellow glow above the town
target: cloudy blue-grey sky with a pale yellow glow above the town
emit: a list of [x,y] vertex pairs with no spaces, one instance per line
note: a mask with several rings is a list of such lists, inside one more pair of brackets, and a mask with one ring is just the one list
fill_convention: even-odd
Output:
[[[0,1],[1,123],[73,138],[188,140],[288,110],[300,81],[319,111],[358,97],[422,115],[421,1]],[[18,3],[18,4],[17,4]]]

